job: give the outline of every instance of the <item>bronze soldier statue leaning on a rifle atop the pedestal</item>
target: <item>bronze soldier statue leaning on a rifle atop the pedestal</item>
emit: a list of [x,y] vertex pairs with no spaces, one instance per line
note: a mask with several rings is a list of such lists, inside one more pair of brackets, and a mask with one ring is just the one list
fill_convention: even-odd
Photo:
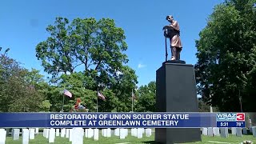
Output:
[[[180,60],[180,53],[182,51],[182,42],[180,39],[180,30],[178,22],[174,21],[172,15],[166,16],[166,20],[170,22],[170,25],[164,26],[162,30],[165,30],[164,35],[166,38],[170,38],[170,49],[171,49],[171,61]],[[166,50],[166,59],[167,59]]]

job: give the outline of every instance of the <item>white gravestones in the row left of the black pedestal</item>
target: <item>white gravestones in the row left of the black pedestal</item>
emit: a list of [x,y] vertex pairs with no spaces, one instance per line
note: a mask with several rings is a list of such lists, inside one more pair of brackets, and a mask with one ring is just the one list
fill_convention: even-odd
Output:
[[[152,134],[151,129],[131,129],[131,136],[142,138],[142,135],[146,133],[146,137],[150,137]],[[94,138],[94,141],[98,141],[98,129],[82,129],[82,128],[73,128],[73,129],[43,129],[43,137],[48,138],[48,142],[54,142],[55,137],[69,138],[69,141],[75,144],[80,144],[83,142],[83,137]],[[12,137],[14,140],[19,139],[20,130],[13,129]],[[36,129],[22,129],[22,144],[28,144],[30,139],[34,139],[34,135],[38,134],[38,128]],[[128,136],[128,129],[102,129],[103,137],[111,137],[111,135],[118,136],[120,139],[126,138]],[[6,142],[6,130],[0,129],[0,144]]]

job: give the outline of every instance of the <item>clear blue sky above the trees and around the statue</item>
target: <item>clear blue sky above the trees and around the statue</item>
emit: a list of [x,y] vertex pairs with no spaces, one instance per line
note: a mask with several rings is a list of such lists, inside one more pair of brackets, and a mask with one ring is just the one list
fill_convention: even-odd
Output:
[[[173,15],[179,22],[183,50],[181,59],[195,64],[197,50],[195,40],[206,26],[206,20],[214,6],[223,0],[2,0],[0,2],[0,46],[8,55],[22,62],[26,69],[41,70],[41,62],[35,57],[35,46],[46,40],[46,26],[54,24],[61,16],[74,18],[113,18],[118,27],[125,30],[130,61],[128,66],[136,70],[138,86],[155,81],[155,71],[165,61],[165,38],[162,26],[168,24],[166,15]],[[168,43],[169,46],[169,43]],[[170,47],[168,48],[170,58]]]

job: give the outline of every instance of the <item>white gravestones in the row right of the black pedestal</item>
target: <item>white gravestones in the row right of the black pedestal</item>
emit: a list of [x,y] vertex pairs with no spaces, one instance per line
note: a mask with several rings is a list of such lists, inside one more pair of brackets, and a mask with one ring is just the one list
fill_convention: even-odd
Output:
[[[256,126],[250,128],[250,133],[253,134],[254,138],[256,138]],[[241,127],[232,127],[231,134],[236,135],[237,137],[242,137],[242,134],[247,134],[247,128]],[[202,135],[208,136],[221,136],[223,138],[228,138],[228,128],[218,128],[218,127],[203,127],[202,128]]]

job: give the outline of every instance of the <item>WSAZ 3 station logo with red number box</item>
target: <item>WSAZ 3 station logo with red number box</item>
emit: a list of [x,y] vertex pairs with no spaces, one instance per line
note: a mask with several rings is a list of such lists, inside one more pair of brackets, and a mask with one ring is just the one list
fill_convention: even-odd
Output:
[[246,114],[245,113],[218,113],[216,115],[216,121],[245,121],[246,120]]

